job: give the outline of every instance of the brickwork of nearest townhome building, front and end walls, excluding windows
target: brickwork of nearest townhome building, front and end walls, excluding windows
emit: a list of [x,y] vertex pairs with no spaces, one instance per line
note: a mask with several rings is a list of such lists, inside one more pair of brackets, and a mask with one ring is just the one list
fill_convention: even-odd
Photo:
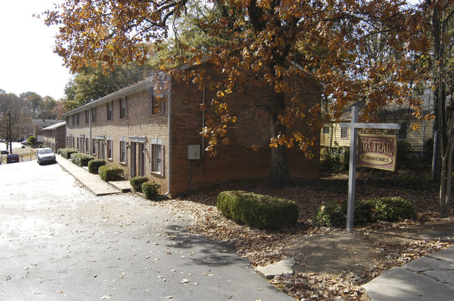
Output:
[[[214,77],[214,73],[212,73]],[[305,101],[314,104],[320,99],[318,86],[302,81],[299,83],[304,90]],[[133,144],[132,137],[145,137],[145,176],[156,180],[161,184],[161,193],[168,191],[168,162],[169,151],[171,153],[171,196],[189,189],[189,160],[188,145],[202,145],[200,131],[203,127],[203,112],[200,104],[203,102],[203,92],[198,91],[193,84],[172,82],[170,88],[171,105],[171,146],[168,147],[168,98],[166,99],[163,114],[150,116],[149,92],[142,90],[128,95],[127,118],[119,118],[119,98],[113,100],[113,118],[107,120],[107,105],[102,103],[96,109],[96,123],[91,123],[91,138],[105,137],[112,139],[112,160],[106,160],[108,164],[121,165],[125,175],[131,176],[131,147],[127,149],[126,163],[119,163],[119,141]],[[237,115],[237,123],[230,128],[228,137],[230,144],[219,144],[217,156],[210,157],[201,152],[203,160],[191,160],[191,189],[222,183],[226,180],[240,178],[264,178],[268,177],[270,170],[270,148],[268,137],[268,117],[263,114],[257,115],[257,105],[261,100],[268,98],[266,88],[245,86],[242,93],[236,93],[226,98]],[[209,104],[214,98],[214,91],[205,91],[205,102]],[[288,101],[288,100],[287,100]],[[80,112],[79,125],[72,124],[72,117],[67,120],[67,135],[72,134],[74,139],[85,135],[90,139],[89,123],[85,123],[85,111]],[[300,127],[304,132],[307,128]],[[319,130],[313,133],[317,136]],[[164,151],[164,174],[150,172],[149,154],[151,153],[152,139],[160,139],[165,148]],[[256,144],[258,151],[252,151],[251,146]],[[77,146],[77,143],[75,143]],[[205,139],[203,148],[206,148]],[[91,141],[89,144],[91,150]],[[91,153],[91,151],[90,151]],[[136,152],[138,154],[138,152]],[[305,160],[304,154],[299,151],[288,152],[288,164],[293,177],[318,178],[319,146],[314,147],[314,160]],[[92,154],[98,157],[98,154]],[[136,167],[138,170],[138,167]]]

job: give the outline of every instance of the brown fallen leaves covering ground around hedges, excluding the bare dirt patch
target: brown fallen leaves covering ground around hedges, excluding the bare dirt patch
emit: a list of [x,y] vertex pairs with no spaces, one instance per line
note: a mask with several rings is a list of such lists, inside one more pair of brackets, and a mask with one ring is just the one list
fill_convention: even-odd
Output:
[[[385,175],[385,176],[383,176]],[[402,184],[402,179],[404,184]],[[321,180],[301,180],[293,187],[271,190],[264,180],[226,183],[225,185],[197,190],[185,199],[171,199],[156,206],[166,206],[174,215],[189,215],[193,223],[188,227],[191,234],[211,240],[229,241],[239,254],[249,259],[252,267],[268,265],[288,257],[288,248],[295,242],[323,234],[337,235],[339,229],[312,226],[315,210],[321,203],[347,197],[348,176],[336,175]],[[356,227],[356,233],[383,237],[383,243],[371,244],[371,257],[358,265],[362,270],[325,275],[316,272],[280,275],[270,282],[296,300],[363,300],[362,286],[393,266],[401,266],[431,252],[454,245],[453,242],[423,240],[418,234],[430,231],[437,222],[453,223],[453,218],[440,219],[437,186],[420,183],[420,173],[358,173],[356,199],[375,196],[401,196],[415,205],[418,219],[400,222],[377,222]],[[295,226],[279,231],[251,229],[226,219],[216,208],[217,194],[225,190],[247,190],[260,194],[280,196],[296,201],[300,218]],[[397,234],[396,234],[397,233]],[[324,246],[321,245],[321,248]],[[310,255],[310,254],[309,254]],[[372,256],[373,255],[373,256]],[[304,262],[299,263],[305,266]],[[185,279],[184,279],[185,280]]]

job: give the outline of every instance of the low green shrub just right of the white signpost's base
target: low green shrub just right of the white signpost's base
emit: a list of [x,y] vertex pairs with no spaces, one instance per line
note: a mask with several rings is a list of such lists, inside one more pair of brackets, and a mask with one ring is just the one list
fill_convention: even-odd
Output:
[[401,197],[382,197],[370,199],[375,208],[376,220],[395,222],[399,219],[415,219],[415,206],[410,201]]

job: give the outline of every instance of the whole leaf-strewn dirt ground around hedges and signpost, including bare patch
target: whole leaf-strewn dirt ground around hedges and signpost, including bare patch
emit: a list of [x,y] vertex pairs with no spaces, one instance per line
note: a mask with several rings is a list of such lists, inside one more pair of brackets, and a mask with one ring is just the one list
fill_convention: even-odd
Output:
[[[411,201],[418,218],[399,222],[376,222],[345,229],[312,225],[321,203],[347,197],[348,176],[344,173],[320,180],[299,180],[281,190],[268,188],[266,180],[232,182],[193,191],[185,199],[163,202],[176,215],[189,214],[193,234],[233,242],[237,252],[253,267],[284,258],[295,258],[294,275],[270,281],[295,300],[363,300],[361,286],[397,265],[403,265],[444,247],[454,245],[453,210],[439,218],[437,184],[425,171],[359,171],[356,199],[401,196]],[[216,196],[224,190],[247,190],[296,201],[297,224],[279,231],[250,229],[226,219],[216,208]]]

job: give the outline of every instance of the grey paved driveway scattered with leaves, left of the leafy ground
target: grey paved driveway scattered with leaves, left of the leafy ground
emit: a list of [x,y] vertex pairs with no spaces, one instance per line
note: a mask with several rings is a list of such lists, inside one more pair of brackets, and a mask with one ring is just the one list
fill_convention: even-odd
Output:
[[58,164],[2,164],[0,183],[0,300],[293,300],[159,204]]

